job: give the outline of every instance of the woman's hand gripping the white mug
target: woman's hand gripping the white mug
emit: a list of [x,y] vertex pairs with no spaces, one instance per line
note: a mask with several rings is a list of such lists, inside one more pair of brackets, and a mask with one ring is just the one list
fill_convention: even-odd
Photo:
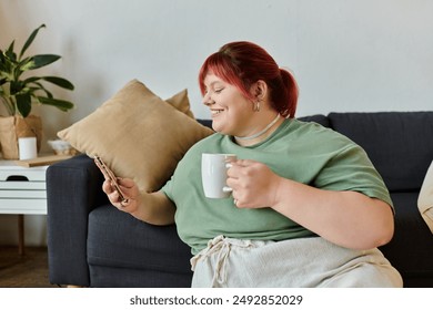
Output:
[[232,188],[233,200],[239,208],[264,208],[275,203],[280,176],[266,165],[250,159],[230,164],[226,184]]

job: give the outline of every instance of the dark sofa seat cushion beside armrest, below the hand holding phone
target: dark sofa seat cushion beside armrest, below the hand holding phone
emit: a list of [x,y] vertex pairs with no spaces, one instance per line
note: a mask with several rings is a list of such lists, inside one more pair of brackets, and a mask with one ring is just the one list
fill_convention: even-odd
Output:
[[174,225],[153,226],[111,205],[89,215],[89,265],[191,275],[190,258]]

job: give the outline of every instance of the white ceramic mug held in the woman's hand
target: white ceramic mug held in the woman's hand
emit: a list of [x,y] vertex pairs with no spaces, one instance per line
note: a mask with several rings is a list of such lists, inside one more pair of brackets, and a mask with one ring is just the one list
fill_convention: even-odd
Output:
[[201,179],[204,196],[208,198],[226,198],[232,189],[226,186],[228,162],[235,161],[234,154],[203,153],[201,157]]

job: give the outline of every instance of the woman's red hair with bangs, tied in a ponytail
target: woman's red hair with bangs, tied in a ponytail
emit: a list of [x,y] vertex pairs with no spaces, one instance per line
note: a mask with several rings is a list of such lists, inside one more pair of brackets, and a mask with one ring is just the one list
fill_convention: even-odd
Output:
[[199,73],[202,95],[205,93],[204,78],[213,72],[224,82],[232,84],[248,99],[251,86],[262,80],[270,90],[272,107],[284,117],[294,117],[298,103],[298,84],[293,75],[280,69],[273,58],[261,46],[245,41],[223,45],[211,54]]

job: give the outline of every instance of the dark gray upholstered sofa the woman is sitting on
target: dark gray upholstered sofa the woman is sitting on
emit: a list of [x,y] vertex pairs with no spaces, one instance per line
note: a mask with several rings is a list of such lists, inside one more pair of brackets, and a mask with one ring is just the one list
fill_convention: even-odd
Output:
[[[360,144],[395,205],[394,238],[381,250],[405,287],[433,287],[433,235],[417,196],[433,159],[433,112],[330,113],[301,117]],[[200,121],[210,125],[210,121]],[[49,277],[84,287],[189,287],[190,249],[175,226],[152,226],[110,206],[85,155],[47,170]]]

